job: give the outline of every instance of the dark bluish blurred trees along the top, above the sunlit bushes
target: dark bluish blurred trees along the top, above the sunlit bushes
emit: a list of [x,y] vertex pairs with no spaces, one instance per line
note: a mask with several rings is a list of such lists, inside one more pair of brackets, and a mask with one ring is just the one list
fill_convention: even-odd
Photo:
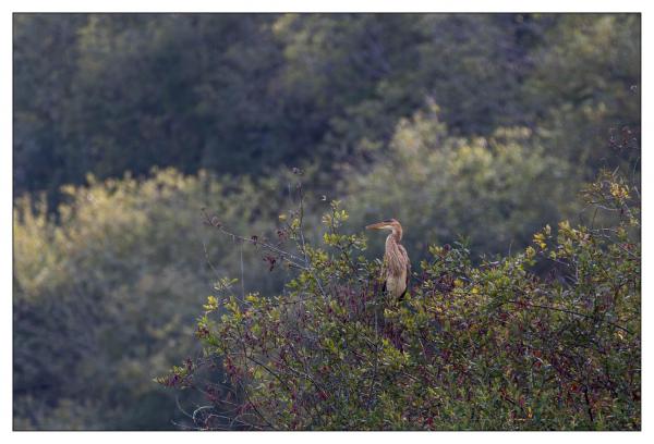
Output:
[[20,14],[14,187],[360,164],[429,99],[456,135],[526,126],[582,174],[640,122],[639,54],[633,14]]

